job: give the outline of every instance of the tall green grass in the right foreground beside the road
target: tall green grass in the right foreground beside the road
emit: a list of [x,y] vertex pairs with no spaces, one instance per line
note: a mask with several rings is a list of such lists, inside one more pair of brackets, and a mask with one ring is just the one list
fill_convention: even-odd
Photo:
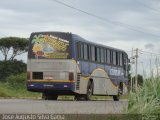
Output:
[[147,79],[135,92],[130,92],[128,113],[160,114],[160,78]]

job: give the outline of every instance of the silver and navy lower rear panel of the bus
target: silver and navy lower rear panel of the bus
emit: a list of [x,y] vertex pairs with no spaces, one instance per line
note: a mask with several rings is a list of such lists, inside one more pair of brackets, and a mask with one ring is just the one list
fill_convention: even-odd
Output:
[[[30,91],[71,90],[75,92],[78,69],[73,60],[29,59],[27,71],[31,76],[27,84]],[[73,81],[68,79],[69,72],[74,74]],[[40,74],[37,73],[42,73],[43,76],[39,78]]]

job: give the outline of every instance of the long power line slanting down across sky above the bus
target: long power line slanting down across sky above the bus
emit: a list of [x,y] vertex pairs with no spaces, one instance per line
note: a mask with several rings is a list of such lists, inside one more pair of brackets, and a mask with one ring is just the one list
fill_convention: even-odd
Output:
[[[71,8],[71,9],[76,10],[76,11],[82,12],[82,13],[87,14],[87,15],[89,15],[89,16],[95,17],[95,18],[100,19],[100,20],[102,20],[102,21],[105,21],[105,22],[107,21],[107,22],[112,23],[112,24],[114,24],[114,25],[119,25],[119,26],[121,26],[121,27],[130,29],[130,30],[132,30],[132,31],[141,32],[141,33],[145,33],[145,34],[150,34],[150,35],[152,35],[152,36],[160,37],[160,36],[157,35],[157,34],[140,30],[140,29],[142,29],[142,28],[141,28],[141,27],[138,27],[138,26],[133,26],[133,25],[129,25],[129,24],[124,24],[124,23],[122,23],[122,22],[117,22],[117,21],[111,21],[111,20],[109,20],[109,19],[107,19],[107,18],[100,17],[100,16],[98,16],[98,15],[96,15],[96,14],[86,12],[86,11],[84,11],[84,10],[82,10],[82,9],[76,8],[76,7],[74,7],[74,6],[71,6],[71,5],[67,4],[67,3],[64,3],[64,2],[61,2],[61,1],[58,1],[58,0],[51,0],[51,1],[54,1],[54,2],[56,2],[56,3],[59,3],[59,4],[63,5],[63,6],[69,7],[69,8]],[[137,28],[140,28],[140,29],[137,29]]]

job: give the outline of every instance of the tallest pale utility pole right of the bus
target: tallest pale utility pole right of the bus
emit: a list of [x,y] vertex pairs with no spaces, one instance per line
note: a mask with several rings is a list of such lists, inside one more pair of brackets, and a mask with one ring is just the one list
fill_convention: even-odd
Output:
[[138,70],[138,48],[136,48],[136,55],[135,55],[135,59],[136,59],[136,70],[135,70],[135,90],[137,91],[137,83],[138,83],[138,75],[137,75],[137,70]]

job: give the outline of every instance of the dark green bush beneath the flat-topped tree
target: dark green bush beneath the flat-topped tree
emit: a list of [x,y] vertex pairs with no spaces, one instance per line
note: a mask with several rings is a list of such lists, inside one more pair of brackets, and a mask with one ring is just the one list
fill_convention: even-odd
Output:
[[23,61],[0,61],[0,81],[10,75],[16,75],[27,71],[27,66]]

